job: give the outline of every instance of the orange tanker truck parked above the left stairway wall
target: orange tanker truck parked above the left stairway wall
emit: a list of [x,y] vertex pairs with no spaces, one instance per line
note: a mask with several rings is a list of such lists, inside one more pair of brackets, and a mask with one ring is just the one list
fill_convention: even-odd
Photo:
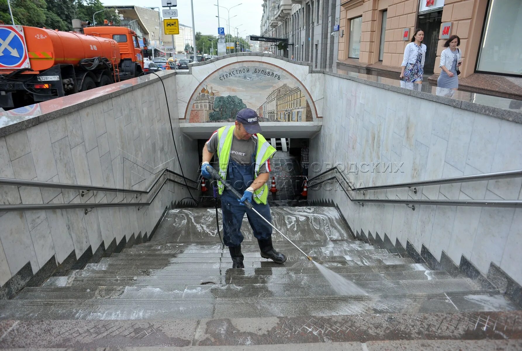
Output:
[[84,33],[0,26],[0,107],[27,106],[143,74],[133,30],[81,29]]

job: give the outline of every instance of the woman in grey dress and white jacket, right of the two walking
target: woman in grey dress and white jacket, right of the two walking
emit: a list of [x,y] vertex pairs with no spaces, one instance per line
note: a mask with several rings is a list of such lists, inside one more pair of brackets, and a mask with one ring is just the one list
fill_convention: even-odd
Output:
[[441,63],[438,65],[442,71],[437,79],[437,87],[445,89],[457,90],[458,76],[457,67],[462,64],[462,55],[458,46],[460,38],[451,36],[444,43],[444,49],[441,53]]

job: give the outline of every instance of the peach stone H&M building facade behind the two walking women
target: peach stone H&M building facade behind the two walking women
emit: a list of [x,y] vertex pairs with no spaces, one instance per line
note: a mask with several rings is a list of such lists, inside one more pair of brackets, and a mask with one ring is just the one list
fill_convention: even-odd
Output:
[[399,72],[413,31],[424,31],[424,73],[438,67],[449,36],[460,38],[465,78],[473,73],[522,77],[520,0],[341,0],[339,62]]

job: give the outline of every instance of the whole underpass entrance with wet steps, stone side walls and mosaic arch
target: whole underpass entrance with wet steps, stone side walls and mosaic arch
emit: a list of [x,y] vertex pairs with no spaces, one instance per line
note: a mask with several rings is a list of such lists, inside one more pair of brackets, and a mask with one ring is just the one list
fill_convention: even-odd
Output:
[[[233,267],[201,165],[244,67],[285,261],[249,208]],[[520,346],[520,119],[263,54],[159,76],[1,127],[2,348]]]

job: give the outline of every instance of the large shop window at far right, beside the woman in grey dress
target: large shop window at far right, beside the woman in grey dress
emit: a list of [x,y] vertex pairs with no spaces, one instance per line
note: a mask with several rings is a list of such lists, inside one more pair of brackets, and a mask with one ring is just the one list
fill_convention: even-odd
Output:
[[520,14],[520,0],[490,1],[482,32],[477,71],[522,75]]

